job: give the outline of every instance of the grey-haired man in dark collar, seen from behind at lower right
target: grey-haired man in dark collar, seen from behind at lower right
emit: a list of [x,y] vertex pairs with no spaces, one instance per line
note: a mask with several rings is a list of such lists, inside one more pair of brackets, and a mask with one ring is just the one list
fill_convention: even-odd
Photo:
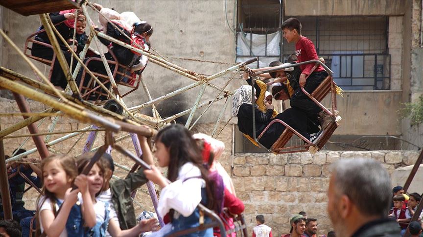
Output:
[[387,218],[391,195],[389,174],[376,160],[338,160],[328,190],[328,213],[336,236],[400,236],[398,223]]

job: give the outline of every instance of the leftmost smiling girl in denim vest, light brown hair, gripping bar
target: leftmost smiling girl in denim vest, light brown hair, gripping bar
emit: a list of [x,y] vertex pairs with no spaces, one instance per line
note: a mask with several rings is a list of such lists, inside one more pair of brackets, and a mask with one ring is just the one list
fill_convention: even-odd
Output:
[[[82,236],[85,225],[93,227],[95,214],[90,210],[91,196],[85,176],[79,176],[75,182],[77,189],[71,191],[72,184],[77,175],[75,161],[69,156],[50,156],[41,163],[43,172],[43,193],[37,199],[37,216],[40,221],[41,233],[47,236]],[[82,208],[75,204],[81,192],[85,204]],[[60,212],[58,212],[61,208]],[[94,215],[93,215],[94,214]]]

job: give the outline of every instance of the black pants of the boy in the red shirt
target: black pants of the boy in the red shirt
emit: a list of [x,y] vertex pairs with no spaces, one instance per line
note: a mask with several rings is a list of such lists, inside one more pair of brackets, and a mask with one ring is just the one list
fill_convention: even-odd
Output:
[[[328,73],[326,71],[312,73],[305,82],[305,91],[311,94],[326,77],[328,77]],[[291,108],[303,111],[312,121],[315,121],[317,119],[317,114],[322,111],[322,108],[320,108],[313,102],[313,100],[303,93],[301,87],[295,90],[295,93],[290,101]]]

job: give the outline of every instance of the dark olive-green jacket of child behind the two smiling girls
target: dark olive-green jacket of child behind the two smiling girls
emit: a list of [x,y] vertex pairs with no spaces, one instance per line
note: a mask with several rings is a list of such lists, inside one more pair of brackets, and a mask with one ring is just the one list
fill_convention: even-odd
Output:
[[118,179],[110,184],[112,203],[119,218],[120,229],[127,230],[137,225],[131,192],[146,184],[144,169],[129,174],[128,178]]

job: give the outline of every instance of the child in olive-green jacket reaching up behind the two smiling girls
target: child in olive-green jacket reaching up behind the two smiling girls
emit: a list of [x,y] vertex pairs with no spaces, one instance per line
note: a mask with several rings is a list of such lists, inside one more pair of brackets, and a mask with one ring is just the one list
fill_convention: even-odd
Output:
[[[153,164],[153,156],[150,152],[147,138],[139,138],[141,151],[143,152],[142,159],[151,165]],[[147,183],[148,180],[143,173],[144,169],[141,167],[137,172],[130,173],[125,179],[118,179],[110,183],[110,179],[115,171],[113,158],[109,154],[104,153],[101,156],[101,160],[105,167],[105,182],[104,191],[98,195],[97,200],[113,203],[118,215],[120,229],[130,229],[137,225],[135,221],[135,210],[131,201],[131,192]]]

